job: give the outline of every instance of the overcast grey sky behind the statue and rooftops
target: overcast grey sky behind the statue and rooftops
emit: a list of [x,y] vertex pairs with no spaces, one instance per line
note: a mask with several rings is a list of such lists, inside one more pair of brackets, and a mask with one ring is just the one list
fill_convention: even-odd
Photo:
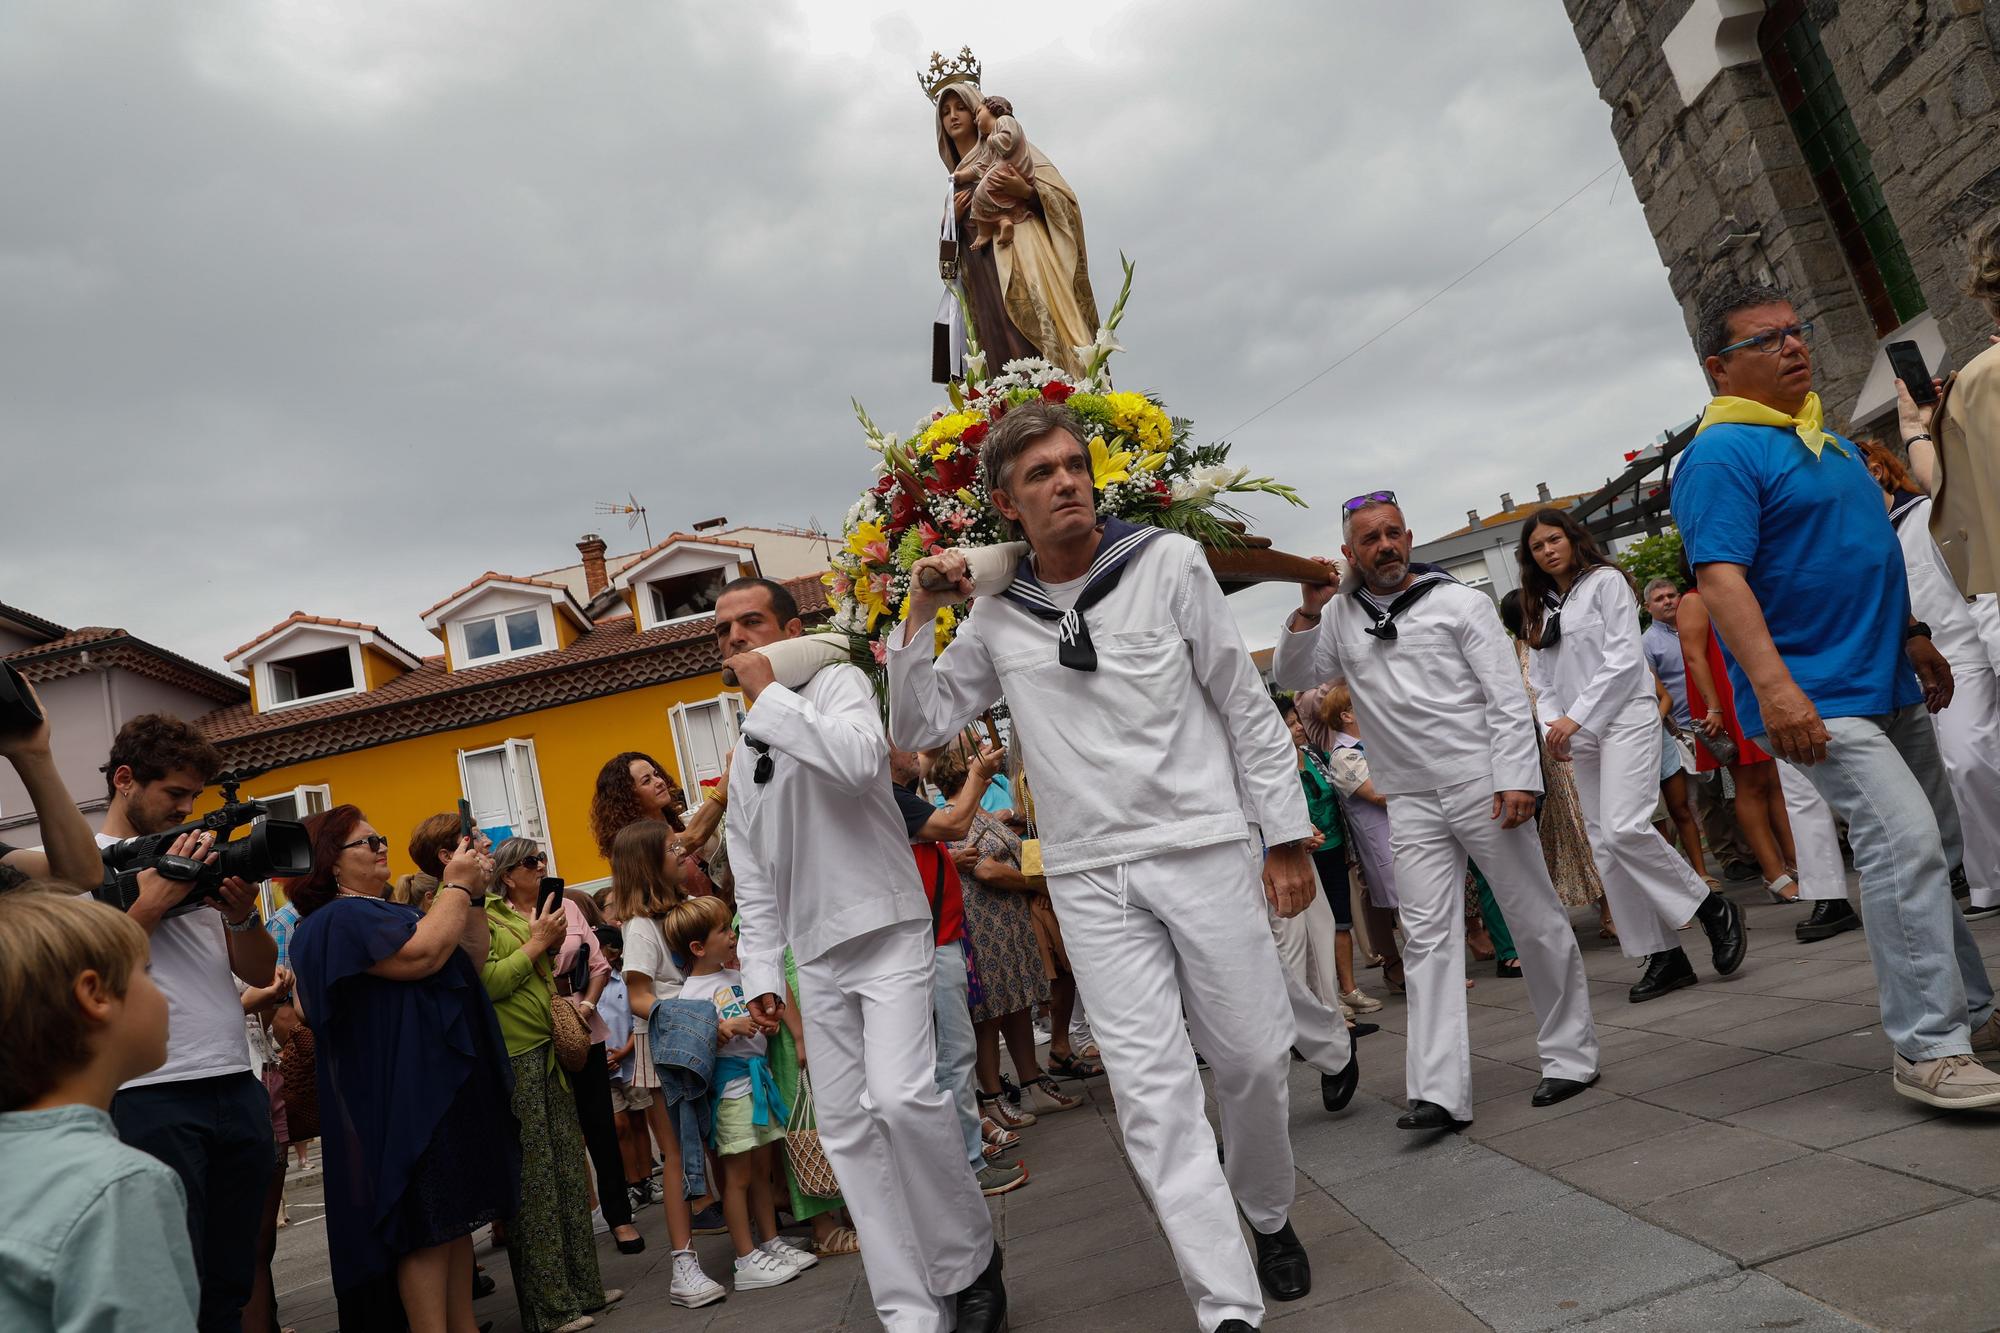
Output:
[[[942,14],[950,12],[950,18]],[[858,396],[934,402],[914,72],[972,48],[1076,188],[1114,362],[1418,538],[1600,484],[1706,392],[1556,0],[14,0],[0,28],[0,600],[220,666],[294,608],[436,650],[480,570],[628,490],[836,524]],[[1252,642],[1290,592],[1236,598]]]

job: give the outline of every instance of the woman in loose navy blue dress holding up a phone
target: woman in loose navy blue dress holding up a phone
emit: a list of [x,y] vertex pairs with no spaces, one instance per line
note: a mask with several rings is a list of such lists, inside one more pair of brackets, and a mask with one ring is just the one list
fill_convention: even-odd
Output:
[[292,969],[314,1031],[326,1243],[342,1329],[474,1333],[472,1233],[520,1195],[512,1075],[486,959],[490,859],[460,845],[430,915],[388,903],[388,839],[306,821]]

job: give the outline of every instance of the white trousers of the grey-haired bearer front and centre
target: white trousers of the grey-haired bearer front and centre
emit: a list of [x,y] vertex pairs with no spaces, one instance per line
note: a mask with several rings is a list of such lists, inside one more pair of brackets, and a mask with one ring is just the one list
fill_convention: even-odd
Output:
[[[1264,1297],[1236,1209],[1270,1233],[1298,1189],[1286,1093],[1294,1019],[1262,867],[1246,841],[1218,843],[1050,875],[1048,897],[1126,1155],[1174,1247],[1196,1323],[1258,1327]],[[1202,1111],[1190,1029],[1216,1075],[1228,1167]]]

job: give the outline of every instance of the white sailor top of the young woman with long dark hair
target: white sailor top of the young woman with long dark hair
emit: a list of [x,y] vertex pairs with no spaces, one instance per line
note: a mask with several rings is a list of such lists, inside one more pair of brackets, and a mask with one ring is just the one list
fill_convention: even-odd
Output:
[[1594,568],[1562,598],[1562,634],[1528,648],[1528,681],[1544,723],[1566,717],[1596,737],[1634,699],[1654,699],[1638,632],[1638,598],[1616,568]]

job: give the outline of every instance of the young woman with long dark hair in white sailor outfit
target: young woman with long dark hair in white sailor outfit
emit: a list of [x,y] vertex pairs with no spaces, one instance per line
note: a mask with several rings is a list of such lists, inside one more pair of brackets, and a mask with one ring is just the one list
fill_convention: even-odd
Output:
[[1548,755],[1572,765],[1618,947],[1646,959],[1632,1003],[1694,985],[1694,965],[1674,943],[1688,917],[1700,919],[1716,973],[1728,977],[1744,957],[1742,909],[1712,893],[1652,827],[1660,713],[1630,576],[1560,508],[1522,524],[1518,560]]

